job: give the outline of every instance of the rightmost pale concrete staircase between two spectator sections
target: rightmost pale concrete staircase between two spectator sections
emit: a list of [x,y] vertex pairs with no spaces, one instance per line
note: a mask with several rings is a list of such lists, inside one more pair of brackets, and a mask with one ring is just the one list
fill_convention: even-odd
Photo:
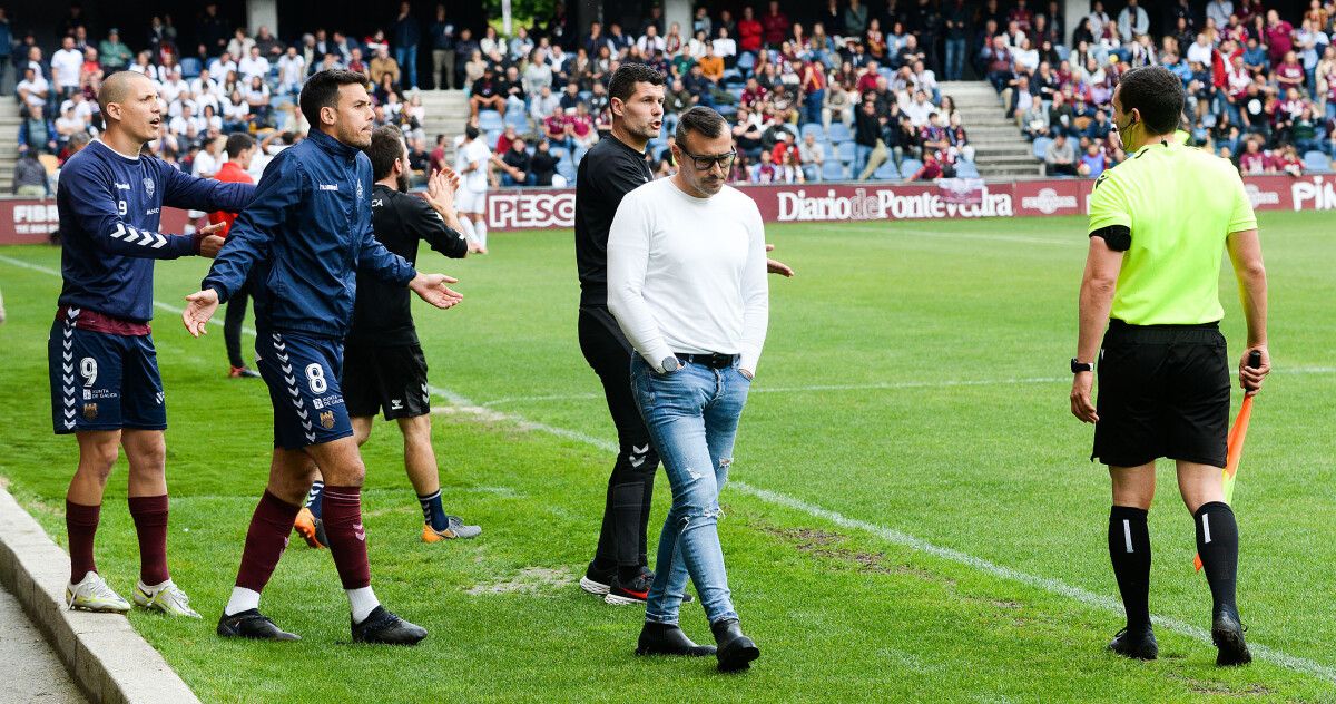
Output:
[[985,80],[962,80],[939,84],[942,95],[951,96],[961,112],[961,123],[974,147],[974,166],[986,179],[1010,179],[1039,175],[1030,143],[1010,120],[1002,99]]

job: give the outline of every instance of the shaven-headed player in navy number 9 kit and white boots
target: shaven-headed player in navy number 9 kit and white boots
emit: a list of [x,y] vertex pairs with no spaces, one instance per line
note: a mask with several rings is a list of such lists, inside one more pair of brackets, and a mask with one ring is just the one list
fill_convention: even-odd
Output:
[[134,600],[198,619],[167,572],[167,409],[148,321],[154,259],[214,256],[223,240],[212,234],[216,227],[167,235],[158,226],[163,206],[242,210],[255,188],[196,179],[140,154],[163,120],[158,90],[146,76],[112,73],[98,103],[107,128],[65,162],[56,194],[64,285],[47,343],[52,421],[56,434],[79,441],[79,468],[65,494],[65,601],[72,609],[130,610],[94,562],[103,489],[124,448],[140,556]]

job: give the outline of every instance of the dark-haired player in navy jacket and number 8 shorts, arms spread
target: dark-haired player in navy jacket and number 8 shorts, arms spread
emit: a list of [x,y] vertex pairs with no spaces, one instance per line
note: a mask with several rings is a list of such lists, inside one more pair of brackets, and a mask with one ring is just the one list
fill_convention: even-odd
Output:
[[255,355],[274,405],[274,458],[269,485],[251,517],[232,596],[218,635],[295,640],[259,612],[259,594],[287,546],[287,534],[315,478],[323,492],[325,534],[351,608],[355,643],[413,645],[426,629],[399,619],[375,598],[362,525],[366,468],[353,437],[339,378],[343,338],[353,321],[358,273],[411,289],[448,309],[454,279],[418,274],[371,232],[374,111],[366,77],[321,71],[298,103],[310,136],[265,168],[254,202],[232,223],[227,246],[187,297],[186,329],[200,335],[219,302],[250,279],[255,297]]

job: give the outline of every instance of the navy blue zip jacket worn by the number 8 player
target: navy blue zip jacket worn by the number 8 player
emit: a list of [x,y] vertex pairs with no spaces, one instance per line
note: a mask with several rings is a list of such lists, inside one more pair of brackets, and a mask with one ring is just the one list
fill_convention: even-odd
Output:
[[371,160],[313,130],[265,167],[202,285],[222,302],[250,277],[255,323],[347,335],[358,271],[407,286],[417,271],[371,232]]

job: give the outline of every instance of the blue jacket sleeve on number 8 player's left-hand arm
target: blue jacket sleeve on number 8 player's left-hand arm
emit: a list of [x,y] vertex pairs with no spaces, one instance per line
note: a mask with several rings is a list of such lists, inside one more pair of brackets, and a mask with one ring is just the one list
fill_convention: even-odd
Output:
[[265,168],[255,186],[255,198],[232,222],[227,242],[200,285],[200,289],[218,291],[219,302],[226,303],[246,283],[251,266],[269,256],[289,210],[301,202],[305,172],[301,162],[287,155],[286,151],[279,154]]

